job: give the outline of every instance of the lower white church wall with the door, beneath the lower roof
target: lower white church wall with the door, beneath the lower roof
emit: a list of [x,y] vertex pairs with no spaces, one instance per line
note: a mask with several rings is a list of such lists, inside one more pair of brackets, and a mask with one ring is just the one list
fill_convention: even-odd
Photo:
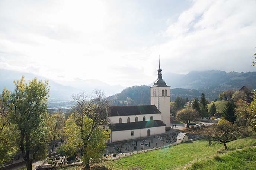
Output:
[[[157,135],[165,133],[165,126],[160,127],[150,127],[144,129],[133,129],[133,130],[122,130],[111,132],[110,142],[131,140],[140,137],[146,137],[148,129],[150,130],[150,135]],[[134,136],[131,136],[131,131],[134,131]]]

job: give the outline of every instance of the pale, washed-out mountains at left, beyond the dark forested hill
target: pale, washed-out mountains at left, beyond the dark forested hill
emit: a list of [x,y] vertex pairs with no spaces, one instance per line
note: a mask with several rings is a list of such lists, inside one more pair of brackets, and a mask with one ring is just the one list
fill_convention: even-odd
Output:
[[[0,69],[0,90],[6,87],[9,90],[14,89],[14,80],[19,80],[21,77],[25,76],[26,80],[32,80],[37,77],[39,80],[48,80],[45,77],[38,76],[31,73],[24,73],[12,70]],[[111,86],[109,84],[103,83],[99,80],[81,80],[76,79],[71,81],[69,84],[60,84],[53,80],[49,80],[50,86],[50,102],[60,102],[68,101],[71,99],[72,94],[85,91],[86,93],[92,93],[94,89],[102,89],[107,96],[118,93],[124,89],[122,86]]]

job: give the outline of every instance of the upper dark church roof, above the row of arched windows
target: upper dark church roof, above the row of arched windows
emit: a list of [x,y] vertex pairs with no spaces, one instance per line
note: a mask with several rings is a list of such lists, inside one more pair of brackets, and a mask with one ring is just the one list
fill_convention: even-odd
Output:
[[111,106],[109,116],[128,116],[161,113],[155,105]]

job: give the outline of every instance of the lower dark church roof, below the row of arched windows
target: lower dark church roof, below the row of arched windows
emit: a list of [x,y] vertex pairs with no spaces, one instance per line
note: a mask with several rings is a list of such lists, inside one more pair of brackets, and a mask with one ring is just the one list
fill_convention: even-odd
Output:
[[116,123],[109,124],[111,131],[122,131],[122,130],[133,130],[133,129],[144,129],[149,127],[160,127],[166,126],[161,120],[150,120],[150,121],[138,121],[131,123]]

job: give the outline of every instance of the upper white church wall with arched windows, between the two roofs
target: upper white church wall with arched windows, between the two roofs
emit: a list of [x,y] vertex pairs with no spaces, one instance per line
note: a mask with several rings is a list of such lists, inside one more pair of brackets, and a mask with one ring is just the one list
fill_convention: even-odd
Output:
[[119,123],[119,118],[122,118],[122,123],[127,123],[127,118],[130,117],[130,122],[135,122],[135,117],[138,117],[138,121],[143,121],[143,117],[146,117],[146,121],[150,120],[150,116],[153,116],[153,120],[161,120],[161,113],[157,114],[140,114],[140,115],[129,115],[129,116],[110,116],[110,123]]

